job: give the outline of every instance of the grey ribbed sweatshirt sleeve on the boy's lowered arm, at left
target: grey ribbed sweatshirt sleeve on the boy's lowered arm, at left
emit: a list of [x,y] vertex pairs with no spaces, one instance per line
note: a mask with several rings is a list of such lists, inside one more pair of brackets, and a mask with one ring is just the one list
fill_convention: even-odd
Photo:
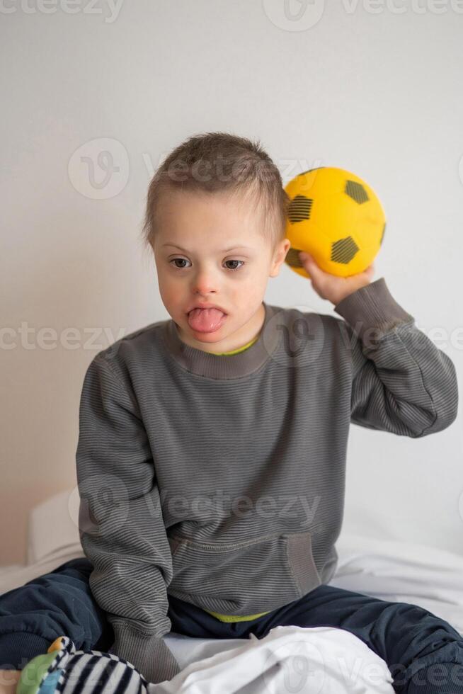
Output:
[[96,355],[81,392],[79,535],[93,597],[113,626],[111,652],[159,683],[180,671],[162,639],[172,556],[147,432],[130,378],[113,361]]

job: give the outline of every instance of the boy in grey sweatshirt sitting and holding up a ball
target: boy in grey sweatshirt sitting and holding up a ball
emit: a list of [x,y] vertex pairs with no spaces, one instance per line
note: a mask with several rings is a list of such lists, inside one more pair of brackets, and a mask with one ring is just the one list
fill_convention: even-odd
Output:
[[370,281],[372,267],[338,278],[301,256],[344,321],[264,302],[290,246],[287,202],[263,149],[227,133],[190,138],[150,183],[144,239],[171,319],[93,358],[76,450],[81,542],[110,652],[159,682],[179,671],[170,630],[261,638],[331,625],[387,662],[397,692],[463,691],[451,625],[326,585],[350,422],[442,431],[457,414],[455,367],[384,278]]

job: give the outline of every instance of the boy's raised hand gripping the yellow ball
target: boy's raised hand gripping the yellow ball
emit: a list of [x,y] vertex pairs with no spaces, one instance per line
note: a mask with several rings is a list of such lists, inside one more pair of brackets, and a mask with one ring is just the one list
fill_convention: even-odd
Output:
[[350,277],[338,277],[338,275],[324,272],[314,261],[314,258],[305,251],[299,252],[299,259],[304,270],[309,273],[309,280],[316,293],[322,299],[331,301],[335,306],[349,294],[369,285],[375,273],[375,266],[372,263],[362,273],[350,275]]

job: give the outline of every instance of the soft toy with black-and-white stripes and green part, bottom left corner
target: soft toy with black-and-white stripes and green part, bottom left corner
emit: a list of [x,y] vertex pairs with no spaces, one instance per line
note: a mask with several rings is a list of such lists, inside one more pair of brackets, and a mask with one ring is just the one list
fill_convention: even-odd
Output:
[[147,694],[149,683],[135,666],[111,653],[76,651],[66,636],[46,654],[35,656],[21,671],[16,694],[80,694],[87,690],[112,694]]

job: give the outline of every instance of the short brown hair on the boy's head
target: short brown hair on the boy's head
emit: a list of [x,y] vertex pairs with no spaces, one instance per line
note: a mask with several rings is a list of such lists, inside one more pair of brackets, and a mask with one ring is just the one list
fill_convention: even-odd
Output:
[[280,171],[259,140],[252,142],[228,132],[205,132],[173,149],[149,183],[142,236],[152,248],[159,200],[169,190],[227,191],[246,198],[250,194],[256,206],[263,202],[262,233],[272,248],[285,238],[290,198],[282,186]]

